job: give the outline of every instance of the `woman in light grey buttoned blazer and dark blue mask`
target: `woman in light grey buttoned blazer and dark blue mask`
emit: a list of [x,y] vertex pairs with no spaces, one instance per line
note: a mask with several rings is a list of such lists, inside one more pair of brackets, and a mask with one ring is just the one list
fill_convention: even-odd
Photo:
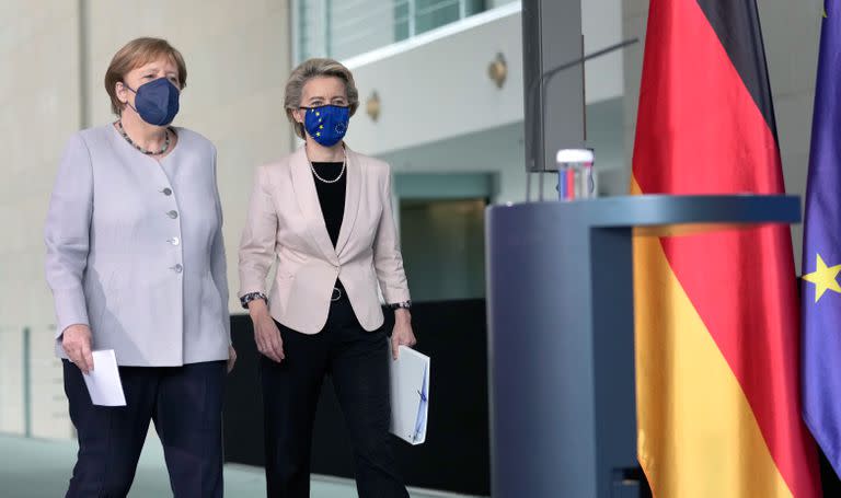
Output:
[[[128,494],[150,420],[175,497],[222,496],[221,412],[230,346],[216,149],[170,123],[181,54],[138,38],[105,74],[114,123],[76,134],[45,240],[56,352],[79,454],[68,497]],[[127,406],[94,406],[83,372],[113,349]]]

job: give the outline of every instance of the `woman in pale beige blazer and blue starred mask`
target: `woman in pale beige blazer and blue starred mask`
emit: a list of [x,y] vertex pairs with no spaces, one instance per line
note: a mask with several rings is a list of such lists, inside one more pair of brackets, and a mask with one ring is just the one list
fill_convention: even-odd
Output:
[[[303,147],[257,169],[240,245],[240,299],[254,323],[270,497],[308,497],[310,445],[330,373],[361,497],[407,497],[389,438],[389,349],[413,346],[389,165],[342,140],[358,107],[350,71],[310,59],[286,85]],[[270,292],[269,268],[276,262]],[[391,348],[378,289],[395,311]]]

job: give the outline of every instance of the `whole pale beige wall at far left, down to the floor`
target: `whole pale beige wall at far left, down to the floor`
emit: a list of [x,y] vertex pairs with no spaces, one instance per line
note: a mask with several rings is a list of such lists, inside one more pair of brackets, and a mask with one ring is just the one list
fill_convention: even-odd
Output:
[[[79,128],[77,2],[0,2],[0,431],[24,431],[22,331],[48,331],[51,296],[44,283],[42,228],[56,163]],[[30,360],[41,371],[30,384],[37,436],[70,435],[54,418],[56,384],[51,340],[33,337]],[[35,399],[37,397],[37,399]],[[48,406],[49,405],[49,406]]]

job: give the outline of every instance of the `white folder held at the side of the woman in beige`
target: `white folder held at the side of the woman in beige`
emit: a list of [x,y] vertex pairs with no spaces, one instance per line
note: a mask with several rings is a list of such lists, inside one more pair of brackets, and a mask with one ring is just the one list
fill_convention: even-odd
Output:
[[410,444],[426,441],[429,357],[405,346],[391,361],[391,432]]

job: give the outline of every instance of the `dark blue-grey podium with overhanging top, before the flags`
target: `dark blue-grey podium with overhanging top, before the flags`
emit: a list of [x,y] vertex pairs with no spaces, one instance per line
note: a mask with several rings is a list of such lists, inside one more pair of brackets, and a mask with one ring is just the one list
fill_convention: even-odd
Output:
[[489,207],[492,496],[640,496],[634,227],[798,221],[796,196]]

